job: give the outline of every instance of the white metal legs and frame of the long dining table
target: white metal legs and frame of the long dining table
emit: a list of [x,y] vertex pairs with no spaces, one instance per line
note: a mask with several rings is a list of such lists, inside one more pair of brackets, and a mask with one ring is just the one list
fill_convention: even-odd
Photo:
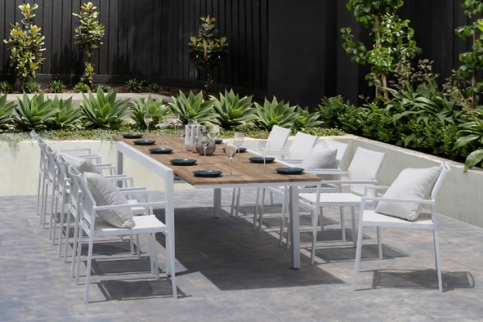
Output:
[[[132,160],[138,162],[148,170],[152,171],[156,175],[159,175],[165,182],[165,197],[166,200],[174,200],[174,171],[173,169],[165,166],[161,162],[158,162],[139,151],[138,149],[131,147],[125,142],[118,141],[117,151],[118,160],[117,168],[118,174],[123,172],[123,157],[124,155]],[[189,182],[188,182],[189,183]],[[292,261],[292,268],[300,268],[300,229],[299,229],[299,186],[301,184],[306,185],[319,185],[320,181],[314,182],[267,182],[267,183],[248,183],[248,184],[192,184],[194,189],[213,189],[213,215],[219,217],[222,211],[222,189],[230,188],[268,188],[271,186],[288,186],[288,200],[289,200],[289,217],[290,217],[290,243],[292,248],[290,249],[290,259]],[[165,208],[166,225],[168,226],[167,238],[167,262],[175,259],[175,237],[174,237],[174,204],[169,202]],[[167,274],[171,275],[169,271],[169,265],[167,265]]]

